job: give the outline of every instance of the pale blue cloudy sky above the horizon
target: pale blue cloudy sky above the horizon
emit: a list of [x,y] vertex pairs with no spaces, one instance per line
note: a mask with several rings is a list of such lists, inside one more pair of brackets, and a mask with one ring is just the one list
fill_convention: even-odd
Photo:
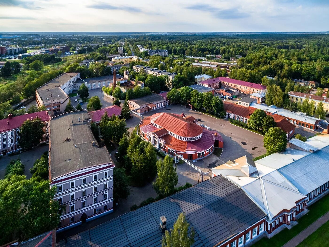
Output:
[[1,31],[329,31],[329,0],[0,0]]

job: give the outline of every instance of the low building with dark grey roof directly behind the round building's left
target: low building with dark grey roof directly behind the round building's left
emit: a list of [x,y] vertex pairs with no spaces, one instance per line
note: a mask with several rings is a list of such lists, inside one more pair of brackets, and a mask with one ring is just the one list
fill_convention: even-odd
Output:
[[151,94],[140,98],[129,99],[129,108],[139,114],[157,110],[169,104],[166,94]]

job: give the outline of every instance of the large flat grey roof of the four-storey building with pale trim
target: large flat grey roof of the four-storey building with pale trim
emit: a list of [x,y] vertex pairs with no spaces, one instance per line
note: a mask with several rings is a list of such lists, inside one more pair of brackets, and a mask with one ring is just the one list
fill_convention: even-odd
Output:
[[[80,117],[80,122],[78,118]],[[87,110],[68,112],[50,121],[50,172],[51,179],[73,171],[112,162],[105,147],[98,148],[87,121]],[[72,123],[73,121],[73,123]],[[65,141],[69,138],[69,141]],[[75,147],[77,145],[77,147]]]

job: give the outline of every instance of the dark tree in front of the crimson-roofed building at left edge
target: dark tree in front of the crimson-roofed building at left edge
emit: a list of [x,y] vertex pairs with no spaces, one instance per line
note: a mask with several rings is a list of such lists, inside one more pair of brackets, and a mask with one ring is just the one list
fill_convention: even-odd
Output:
[[25,120],[19,128],[19,140],[18,144],[22,149],[29,149],[40,143],[42,138],[44,124],[41,123],[40,118],[33,120]]

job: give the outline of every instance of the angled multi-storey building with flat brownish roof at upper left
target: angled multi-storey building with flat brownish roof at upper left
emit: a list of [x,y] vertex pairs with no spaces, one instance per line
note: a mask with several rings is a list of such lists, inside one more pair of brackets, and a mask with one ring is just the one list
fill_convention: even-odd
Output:
[[37,106],[44,105],[52,117],[64,112],[73,83],[80,78],[78,73],[63,73],[36,89]]

